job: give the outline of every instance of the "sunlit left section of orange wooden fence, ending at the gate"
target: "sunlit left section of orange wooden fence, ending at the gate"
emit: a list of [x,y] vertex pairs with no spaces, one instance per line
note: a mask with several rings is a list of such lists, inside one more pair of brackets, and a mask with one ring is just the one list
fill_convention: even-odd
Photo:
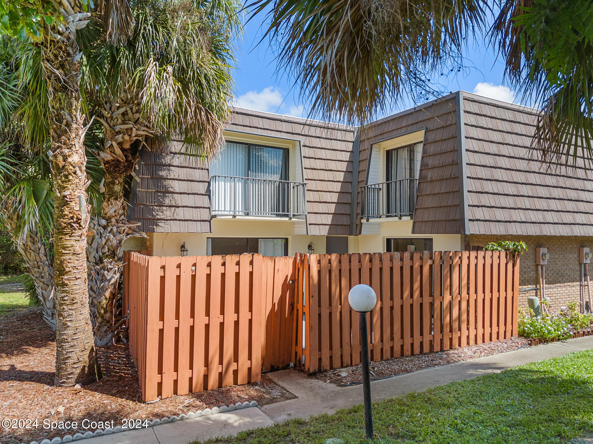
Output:
[[295,258],[126,253],[129,346],[144,401],[260,380],[294,352]]

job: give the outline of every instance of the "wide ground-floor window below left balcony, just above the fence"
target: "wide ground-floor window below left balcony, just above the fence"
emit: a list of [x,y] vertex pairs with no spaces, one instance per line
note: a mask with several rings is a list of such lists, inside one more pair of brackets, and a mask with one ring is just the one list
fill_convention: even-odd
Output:
[[262,256],[288,256],[288,239],[264,237],[209,237],[206,255],[242,255],[260,253]]

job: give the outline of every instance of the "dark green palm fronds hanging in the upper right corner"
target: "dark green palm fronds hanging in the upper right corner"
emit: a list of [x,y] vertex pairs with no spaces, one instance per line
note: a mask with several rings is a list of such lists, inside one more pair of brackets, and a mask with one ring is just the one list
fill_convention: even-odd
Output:
[[593,164],[591,2],[502,2],[490,36],[509,83],[539,108],[533,146],[544,162]]

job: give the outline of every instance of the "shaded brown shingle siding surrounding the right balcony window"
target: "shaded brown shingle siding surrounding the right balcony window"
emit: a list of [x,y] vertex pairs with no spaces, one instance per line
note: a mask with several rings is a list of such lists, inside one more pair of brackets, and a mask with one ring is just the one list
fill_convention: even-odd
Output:
[[[361,133],[358,185],[366,183],[371,145],[425,129],[412,233],[460,233],[455,95],[378,120]],[[358,213],[360,214],[360,201]],[[361,233],[358,218],[357,233]]]

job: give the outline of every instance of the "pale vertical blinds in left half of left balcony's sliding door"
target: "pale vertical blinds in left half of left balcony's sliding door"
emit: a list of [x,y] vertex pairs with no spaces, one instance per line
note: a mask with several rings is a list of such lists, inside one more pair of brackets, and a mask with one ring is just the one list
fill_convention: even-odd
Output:
[[245,214],[247,211],[248,149],[244,143],[227,142],[224,149],[210,163],[212,181],[211,202],[213,211],[225,214]]

